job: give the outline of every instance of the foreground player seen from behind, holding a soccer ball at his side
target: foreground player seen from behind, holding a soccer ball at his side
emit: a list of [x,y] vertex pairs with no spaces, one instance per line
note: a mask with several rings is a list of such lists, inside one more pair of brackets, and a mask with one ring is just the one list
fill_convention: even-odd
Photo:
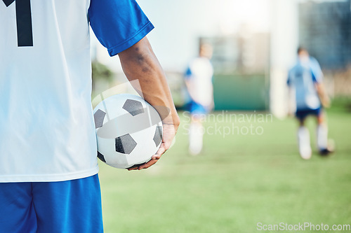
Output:
[[[119,55],[137,91],[162,112],[169,148],[179,125],[135,0],[0,1],[0,232],[103,232],[91,106],[89,24]],[[168,114],[169,113],[169,114]]]

